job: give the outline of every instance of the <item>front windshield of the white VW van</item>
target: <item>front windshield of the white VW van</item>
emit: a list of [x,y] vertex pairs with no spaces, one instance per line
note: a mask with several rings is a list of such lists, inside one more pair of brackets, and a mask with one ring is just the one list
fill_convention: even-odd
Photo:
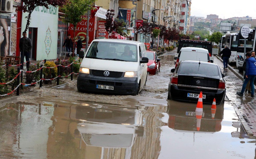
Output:
[[137,45],[94,41],[88,50],[86,58],[137,62]]

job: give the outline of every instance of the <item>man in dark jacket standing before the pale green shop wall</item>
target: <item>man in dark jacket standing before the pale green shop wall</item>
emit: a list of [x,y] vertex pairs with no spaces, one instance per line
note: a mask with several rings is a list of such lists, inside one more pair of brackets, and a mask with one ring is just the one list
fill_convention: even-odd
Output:
[[[19,50],[26,58],[27,71],[29,71],[29,55],[31,52],[32,43],[31,40],[27,38],[27,33],[25,31],[22,33],[22,35],[23,37],[19,40]],[[20,64],[24,63],[24,56],[20,59]]]

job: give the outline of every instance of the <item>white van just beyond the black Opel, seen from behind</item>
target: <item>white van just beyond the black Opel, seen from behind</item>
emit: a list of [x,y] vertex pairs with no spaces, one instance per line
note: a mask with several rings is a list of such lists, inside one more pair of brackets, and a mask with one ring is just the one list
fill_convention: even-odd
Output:
[[198,47],[182,47],[180,49],[178,57],[174,58],[176,61],[175,68],[179,61],[201,61],[201,62],[213,62],[210,60],[209,52],[207,49]]

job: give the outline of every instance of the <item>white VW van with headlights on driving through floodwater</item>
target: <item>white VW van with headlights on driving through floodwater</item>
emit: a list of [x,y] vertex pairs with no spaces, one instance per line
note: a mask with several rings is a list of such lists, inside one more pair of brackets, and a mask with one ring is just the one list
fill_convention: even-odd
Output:
[[81,92],[138,94],[147,79],[148,58],[144,43],[95,39],[83,58],[77,78]]

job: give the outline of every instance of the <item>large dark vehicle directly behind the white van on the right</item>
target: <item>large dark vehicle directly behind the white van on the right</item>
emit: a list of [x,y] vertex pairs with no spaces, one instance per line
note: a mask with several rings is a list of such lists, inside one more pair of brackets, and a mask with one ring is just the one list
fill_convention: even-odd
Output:
[[[200,41],[200,40],[188,40],[188,39],[180,39],[179,45],[177,48],[177,53],[175,54],[175,57],[178,57],[179,51],[182,47],[198,47],[198,48],[205,48],[208,50],[210,59],[214,60],[214,57],[211,57],[212,54],[212,42],[210,41]],[[174,57],[174,58],[175,58]],[[175,60],[176,63],[176,60]]]

